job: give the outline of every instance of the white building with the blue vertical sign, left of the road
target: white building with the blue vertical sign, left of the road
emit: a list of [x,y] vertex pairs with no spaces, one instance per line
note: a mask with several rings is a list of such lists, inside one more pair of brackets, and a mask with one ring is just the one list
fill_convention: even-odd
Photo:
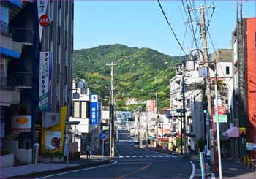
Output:
[[[89,88],[79,88],[77,85],[79,81],[81,80],[73,80],[73,112],[70,121],[79,122],[78,125],[72,126],[74,131],[72,142],[77,143],[80,155],[85,155],[86,146],[90,146],[93,152],[99,150],[100,147],[99,128],[102,123],[102,103],[97,94],[91,94]],[[96,107],[95,103],[97,103]],[[93,121],[93,117],[96,121]]]

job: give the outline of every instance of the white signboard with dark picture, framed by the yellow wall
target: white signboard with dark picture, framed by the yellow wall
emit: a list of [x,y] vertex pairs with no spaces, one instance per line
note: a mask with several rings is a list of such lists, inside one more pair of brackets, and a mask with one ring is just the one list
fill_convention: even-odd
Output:
[[45,148],[52,150],[61,148],[61,131],[45,132]]

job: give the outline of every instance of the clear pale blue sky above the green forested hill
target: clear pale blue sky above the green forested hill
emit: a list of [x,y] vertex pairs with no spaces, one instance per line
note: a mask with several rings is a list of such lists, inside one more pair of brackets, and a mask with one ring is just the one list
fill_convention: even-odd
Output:
[[[192,32],[184,23],[187,20],[181,1],[160,1],[167,19],[183,43],[186,53],[192,46]],[[193,4],[193,2],[195,4]],[[187,1],[190,6],[200,4],[214,10],[209,32],[215,48],[230,47],[231,32],[236,26],[236,1]],[[187,7],[186,1],[184,5]],[[243,5],[244,18],[255,17],[255,1]],[[211,17],[212,9],[208,9]],[[187,14],[188,15],[188,14]],[[200,12],[197,10],[200,17]],[[192,20],[197,17],[192,12]],[[210,18],[209,17],[209,18]],[[208,19],[206,15],[206,19]],[[187,34],[185,35],[187,26]],[[196,28],[193,23],[194,29]],[[199,39],[199,26],[197,39]],[[199,41],[199,47],[202,41]],[[184,55],[176,42],[157,1],[75,1],[74,47],[75,49],[97,47],[98,45],[123,44],[129,47],[149,47],[171,56]],[[209,53],[213,52],[208,39]]]

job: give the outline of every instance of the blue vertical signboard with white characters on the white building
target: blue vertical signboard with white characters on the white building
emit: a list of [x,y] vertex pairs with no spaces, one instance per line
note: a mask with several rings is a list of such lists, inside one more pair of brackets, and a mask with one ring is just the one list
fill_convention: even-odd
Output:
[[97,125],[98,118],[98,95],[91,94],[91,104],[90,104],[90,124]]

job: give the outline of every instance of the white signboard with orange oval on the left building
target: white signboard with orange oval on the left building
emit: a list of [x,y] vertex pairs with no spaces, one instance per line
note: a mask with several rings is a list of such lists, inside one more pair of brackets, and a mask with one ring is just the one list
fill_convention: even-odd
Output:
[[15,115],[12,116],[12,130],[15,131],[31,131],[32,118],[31,115]]

